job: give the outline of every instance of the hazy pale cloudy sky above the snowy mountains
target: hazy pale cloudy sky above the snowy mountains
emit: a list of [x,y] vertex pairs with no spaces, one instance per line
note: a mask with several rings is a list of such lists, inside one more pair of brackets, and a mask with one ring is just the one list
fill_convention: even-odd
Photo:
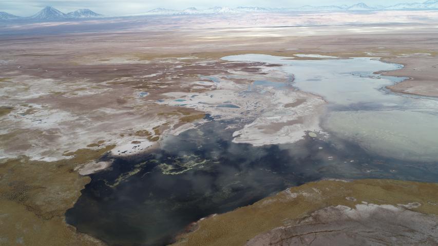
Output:
[[[257,7],[300,7],[303,5],[353,5],[358,2],[368,5],[393,5],[414,2],[409,0],[0,0],[0,11],[28,16],[45,6],[52,6],[63,12],[89,8],[105,15],[143,13],[154,8],[184,9],[188,7],[210,8],[257,6]],[[416,2],[424,2],[420,0]]]

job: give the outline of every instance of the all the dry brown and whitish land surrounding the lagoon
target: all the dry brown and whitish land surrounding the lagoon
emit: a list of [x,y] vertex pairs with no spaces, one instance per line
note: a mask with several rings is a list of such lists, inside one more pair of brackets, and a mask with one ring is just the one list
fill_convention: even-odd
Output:
[[[196,130],[211,117],[234,120],[228,128],[234,129],[235,144],[331,141],[321,120],[327,98],[294,87],[299,78],[283,71],[284,64],[226,57],[377,57],[404,67],[374,71],[376,75],[407,77],[380,88],[382,93],[433,104],[438,98],[437,28],[436,13],[428,11],[154,16],[2,26],[0,225],[9,226],[0,227],[0,244],[119,245],[66,223],[65,213],[90,182],[89,175],[111,169],[116,158],[129,160],[159,150],[166,139]],[[263,84],[262,91],[247,92],[257,86],[255,81],[290,84],[282,90]],[[427,158],[415,161],[438,163],[435,143],[426,142],[430,152],[410,157],[418,154]],[[392,149],[385,150],[388,155],[364,149],[412,161],[395,156]],[[327,153],[324,158],[330,157]],[[184,160],[178,167],[161,163],[158,168],[180,175],[203,163]],[[326,240],[360,244],[373,238],[380,244],[435,245],[438,186],[417,177],[396,179],[401,180],[325,180],[277,191],[249,207],[187,224],[188,233],[175,243],[322,245]],[[407,179],[411,181],[403,181]],[[344,217],[336,220],[339,214]],[[376,221],[387,234],[364,233]],[[357,231],[348,231],[346,224]],[[397,234],[401,228],[409,232]],[[351,236],[358,231],[360,237]]]

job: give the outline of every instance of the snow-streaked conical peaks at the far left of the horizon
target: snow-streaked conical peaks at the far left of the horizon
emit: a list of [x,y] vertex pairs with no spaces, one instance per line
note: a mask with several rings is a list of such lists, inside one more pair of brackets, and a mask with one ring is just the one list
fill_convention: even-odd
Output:
[[78,9],[69,13],[63,13],[58,9],[47,6],[38,13],[29,17],[20,17],[6,12],[0,12],[0,20],[63,20],[63,19],[80,19],[80,18],[96,18],[103,15],[93,12],[89,9]]

